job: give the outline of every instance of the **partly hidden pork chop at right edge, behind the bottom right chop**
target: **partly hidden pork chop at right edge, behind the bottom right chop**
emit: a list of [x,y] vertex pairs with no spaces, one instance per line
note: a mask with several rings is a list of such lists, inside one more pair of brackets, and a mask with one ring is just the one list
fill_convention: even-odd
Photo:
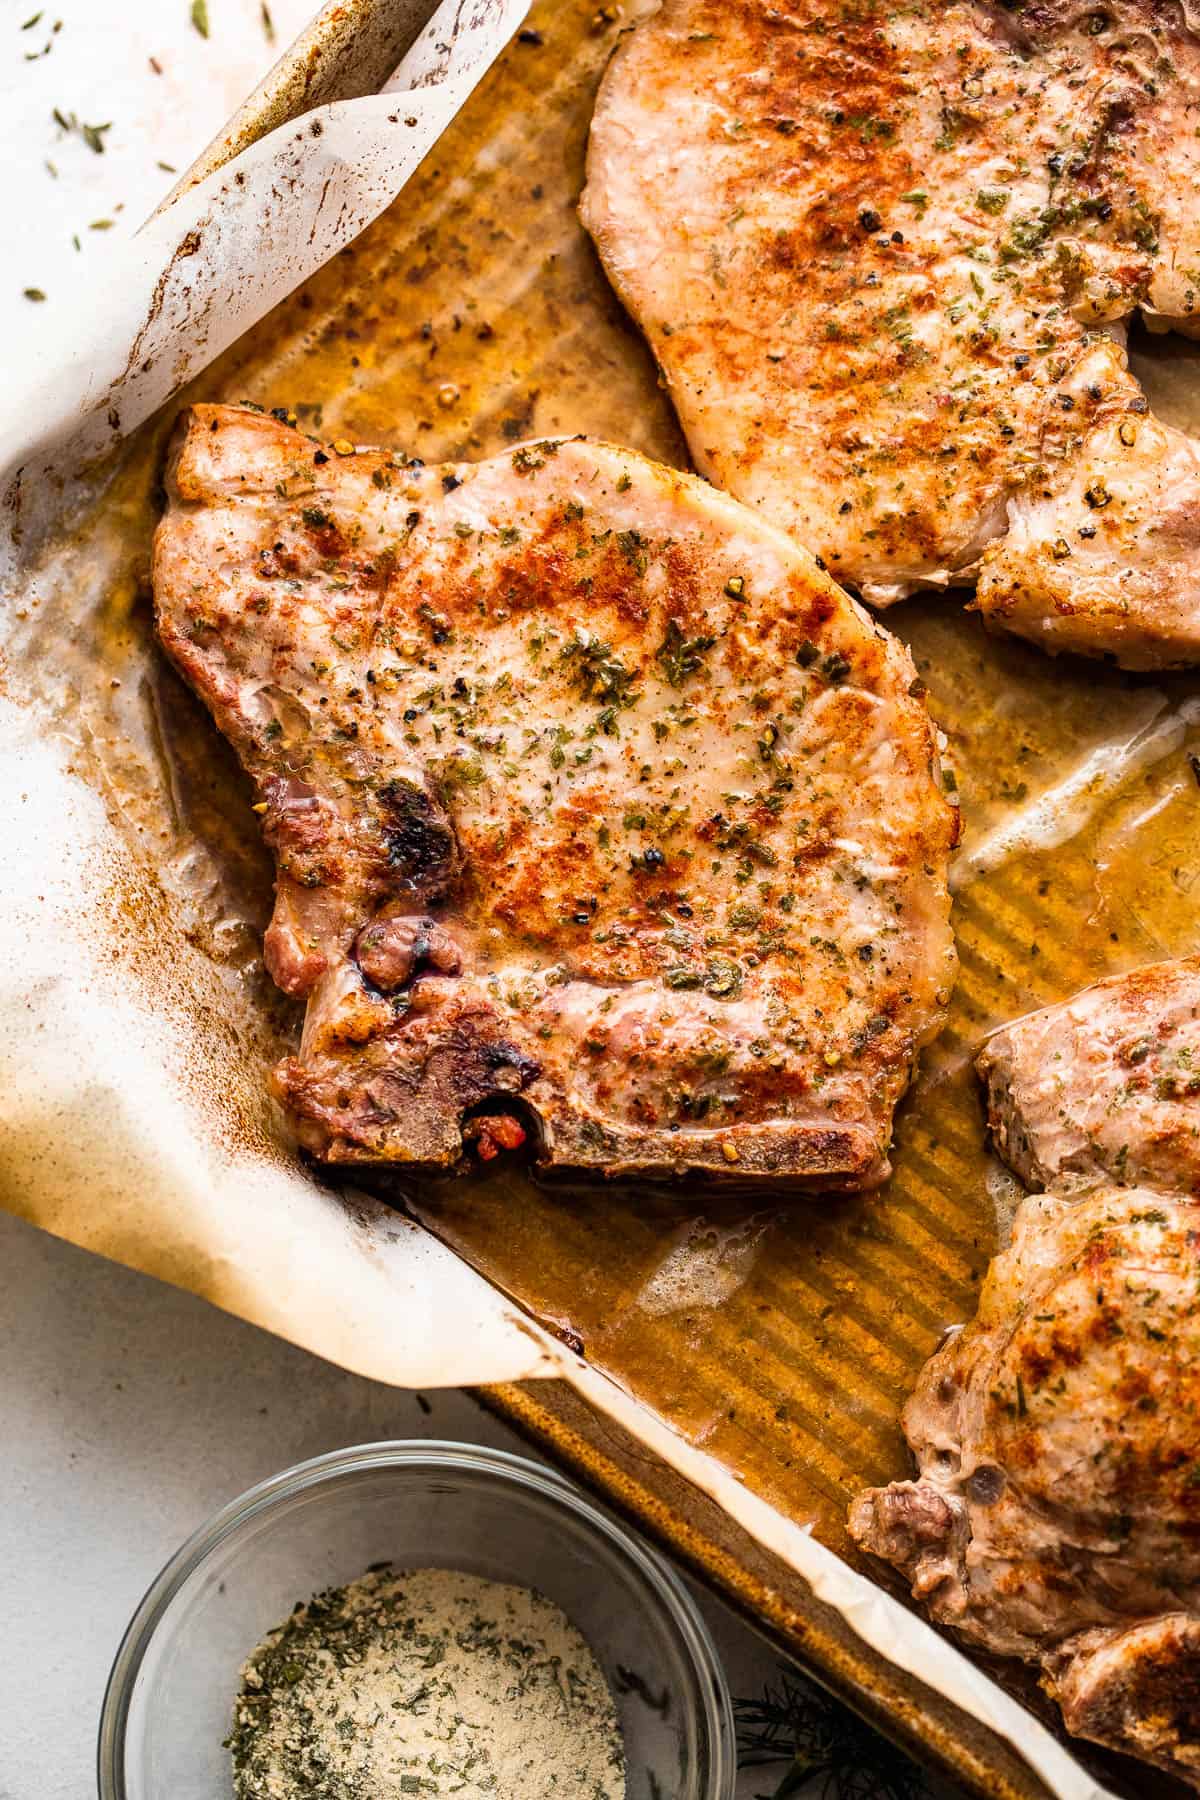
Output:
[[1200,1197],[1200,958],[1029,1013],[977,1067],[997,1150],[1025,1186],[1106,1179]]

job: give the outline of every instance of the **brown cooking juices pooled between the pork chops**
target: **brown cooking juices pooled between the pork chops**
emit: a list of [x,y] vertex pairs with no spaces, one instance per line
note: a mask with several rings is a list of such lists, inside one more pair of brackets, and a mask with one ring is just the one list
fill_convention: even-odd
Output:
[[[290,407],[315,434],[426,461],[588,432],[684,463],[653,364],[576,220],[617,31],[594,20],[594,0],[536,9],[543,45],[515,43],[390,212],[184,400]],[[1195,360],[1160,353],[1150,367],[1164,410],[1180,414],[1178,369]],[[176,412],[137,436],[47,562],[14,668],[266,1064],[297,1024],[259,959],[270,864],[232,752],[151,632],[149,538]],[[984,1150],[973,1048],[999,1021],[1198,938],[1187,752],[1200,733],[1164,725],[1195,680],[988,639],[961,596],[909,603],[887,623],[912,646],[950,740],[963,853],[991,841],[995,860],[959,889],[954,1010],[901,1109],[892,1181],[765,1204],[696,1184],[542,1186],[500,1165],[405,1190],[493,1282],[842,1552],[849,1496],[907,1467],[900,1406],[943,1330],[972,1314],[1011,1210],[1013,1184]],[[1139,729],[1119,779],[1103,758],[1087,765]],[[1065,841],[999,855],[993,833],[1085,765]]]

